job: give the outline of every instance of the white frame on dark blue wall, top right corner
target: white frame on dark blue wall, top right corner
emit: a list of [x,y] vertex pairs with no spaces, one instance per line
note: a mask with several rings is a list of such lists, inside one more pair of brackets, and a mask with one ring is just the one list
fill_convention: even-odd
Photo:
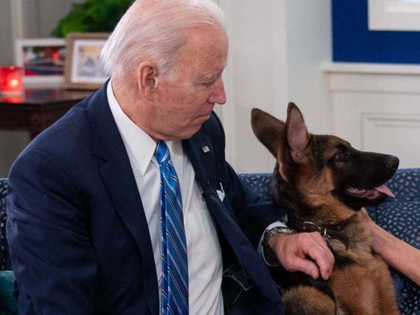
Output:
[[419,31],[420,2],[368,0],[369,30]]

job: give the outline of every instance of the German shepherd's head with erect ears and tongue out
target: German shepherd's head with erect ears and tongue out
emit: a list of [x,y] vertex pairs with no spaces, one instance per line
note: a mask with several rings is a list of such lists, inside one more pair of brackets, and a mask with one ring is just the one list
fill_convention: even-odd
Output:
[[397,157],[358,151],[335,136],[310,134],[293,103],[285,123],[258,108],[251,116],[255,135],[276,158],[274,200],[286,199],[298,216],[322,216],[333,224],[393,196],[384,183],[397,170]]

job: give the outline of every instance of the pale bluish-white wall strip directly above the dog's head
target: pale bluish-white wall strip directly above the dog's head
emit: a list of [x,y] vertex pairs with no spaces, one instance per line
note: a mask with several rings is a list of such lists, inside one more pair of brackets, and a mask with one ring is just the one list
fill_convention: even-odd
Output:
[[[309,131],[332,132],[320,64],[332,60],[329,0],[287,0],[288,100],[302,110]],[[281,113],[285,117],[285,112]]]

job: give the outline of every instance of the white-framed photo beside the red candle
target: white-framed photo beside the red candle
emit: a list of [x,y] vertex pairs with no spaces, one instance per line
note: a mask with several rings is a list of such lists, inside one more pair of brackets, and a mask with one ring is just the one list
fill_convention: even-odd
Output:
[[15,63],[24,69],[23,84],[62,86],[65,53],[64,39],[17,39]]

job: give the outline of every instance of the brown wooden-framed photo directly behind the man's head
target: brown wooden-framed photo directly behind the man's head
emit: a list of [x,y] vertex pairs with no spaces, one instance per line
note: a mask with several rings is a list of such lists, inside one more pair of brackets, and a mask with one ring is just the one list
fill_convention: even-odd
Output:
[[109,77],[99,56],[109,33],[69,33],[64,68],[64,87],[96,90]]

